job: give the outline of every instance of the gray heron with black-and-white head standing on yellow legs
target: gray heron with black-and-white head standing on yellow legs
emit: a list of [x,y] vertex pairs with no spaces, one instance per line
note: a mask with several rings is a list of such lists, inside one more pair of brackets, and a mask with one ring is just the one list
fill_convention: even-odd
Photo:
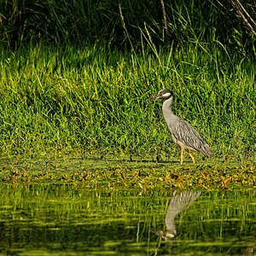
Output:
[[195,159],[193,154],[191,154],[191,150],[199,151],[209,157],[212,154],[212,150],[201,138],[199,133],[183,119],[172,113],[172,90],[160,90],[157,95],[148,98],[148,100],[154,99],[165,100],[162,106],[162,112],[173,142],[181,148],[180,163],[183,164],[183,150],[188,151],[193,163],[195,163]]

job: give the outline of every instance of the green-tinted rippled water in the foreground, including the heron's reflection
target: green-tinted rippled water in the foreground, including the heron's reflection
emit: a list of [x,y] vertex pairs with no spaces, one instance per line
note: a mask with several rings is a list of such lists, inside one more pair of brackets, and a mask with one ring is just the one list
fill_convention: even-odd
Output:
[[0,255],[256,255],[254,190],[100,190],[1,184]]

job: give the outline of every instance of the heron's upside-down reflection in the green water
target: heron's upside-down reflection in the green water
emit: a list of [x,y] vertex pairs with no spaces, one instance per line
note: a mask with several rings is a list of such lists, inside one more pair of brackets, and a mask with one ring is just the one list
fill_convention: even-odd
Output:
[[154,233],[164,240],[172,240],[177,236],[175,217],[178,213],[186,210],[200,194],[201,192],[183,191],[177,193],[174,191],[166,211],[166,230],[155,230]]

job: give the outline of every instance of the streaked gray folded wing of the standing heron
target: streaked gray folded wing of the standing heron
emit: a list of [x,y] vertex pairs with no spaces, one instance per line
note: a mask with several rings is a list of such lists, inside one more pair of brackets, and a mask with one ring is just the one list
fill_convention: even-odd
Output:
[[180,141],[190,148],[194,148],[207,156],[212,154],[211,148],[202,139],[200,134],[195,131],[191,125],[183,121],[183,119],[178,118],[175,125],[173,125],[172,136],[175,137],[177,141]]

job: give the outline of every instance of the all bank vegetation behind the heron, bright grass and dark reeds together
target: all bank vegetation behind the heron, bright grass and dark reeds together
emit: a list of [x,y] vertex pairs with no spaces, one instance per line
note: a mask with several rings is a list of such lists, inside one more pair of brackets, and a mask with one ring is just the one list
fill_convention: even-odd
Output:
[[1,154],[176,155],[146,102],[172,88],[215,156],[252,157],[253,31],[228,3],[160,3],[3,1]]

